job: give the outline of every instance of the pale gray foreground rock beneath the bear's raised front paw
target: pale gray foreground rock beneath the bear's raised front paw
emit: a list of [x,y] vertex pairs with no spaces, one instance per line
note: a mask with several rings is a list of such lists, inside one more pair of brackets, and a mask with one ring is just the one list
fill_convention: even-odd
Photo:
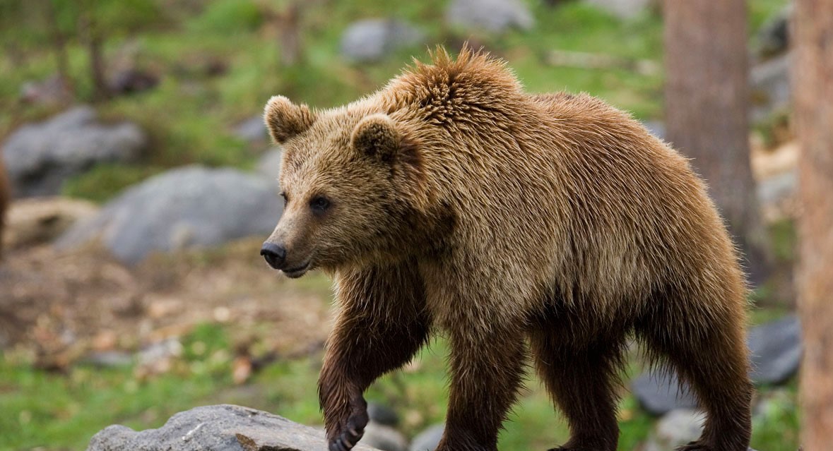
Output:
[[[109,426],[92,437],[87,451],[321,451],[324,433],[277,415],[223,404],[180,412],[159,429],[136,432]],[[362,444],[357,451],[371,451]]]

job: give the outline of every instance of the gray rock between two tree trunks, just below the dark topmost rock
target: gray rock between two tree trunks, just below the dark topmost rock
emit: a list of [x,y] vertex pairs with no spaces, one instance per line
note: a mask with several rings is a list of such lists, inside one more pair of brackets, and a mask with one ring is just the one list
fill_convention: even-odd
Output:
[[765,121],[776,112],[787,112],[792,98],[790,86],[791,53],[761,62],[751,68],[751,121]]

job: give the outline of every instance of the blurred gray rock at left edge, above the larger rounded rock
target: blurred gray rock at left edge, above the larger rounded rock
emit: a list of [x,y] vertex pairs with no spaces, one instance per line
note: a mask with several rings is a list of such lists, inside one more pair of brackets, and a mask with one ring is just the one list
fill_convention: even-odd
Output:
[[49,196],[96,163],[132,160],[146,144],[136,124],[102,125],[92,107],[74,107],[20,127],[3,145],[2,157],[15,196]]

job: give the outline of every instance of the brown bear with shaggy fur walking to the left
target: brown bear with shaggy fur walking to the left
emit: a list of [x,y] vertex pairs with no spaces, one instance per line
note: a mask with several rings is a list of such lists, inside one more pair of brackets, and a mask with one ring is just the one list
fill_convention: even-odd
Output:
[[[494,450],[528,354],[571,437],[616,449],[635,336],[706,410],[687,451],[745,451],[746,285],[686,158],[604,102],[523,92],[505,64],[437,51],[380,91],[313,111],[272,97],[286,209],[261,254],[334,276],[320,402],[331,450],[362,393],[433,331],[450,342],[441,451]],[[528,343],[528,344],[527,344]]]

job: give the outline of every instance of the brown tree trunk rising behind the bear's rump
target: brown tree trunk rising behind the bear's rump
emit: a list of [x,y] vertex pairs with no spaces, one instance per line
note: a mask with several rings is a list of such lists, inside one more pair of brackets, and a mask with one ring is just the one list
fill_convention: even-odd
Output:
[[753,285],[769,272],[749,161],[746,2],[666,0],[667,139],[693,158]]

